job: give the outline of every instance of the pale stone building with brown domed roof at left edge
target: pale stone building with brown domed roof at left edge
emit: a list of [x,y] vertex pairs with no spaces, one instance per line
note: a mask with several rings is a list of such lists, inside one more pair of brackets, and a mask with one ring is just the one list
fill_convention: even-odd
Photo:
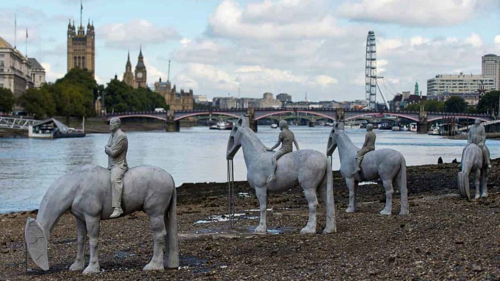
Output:
[[[16,98],[32,88],[31,63],[22,53],[0,37],[0,87],[8,88]],[[20,108],[16,106],[16,108]]]

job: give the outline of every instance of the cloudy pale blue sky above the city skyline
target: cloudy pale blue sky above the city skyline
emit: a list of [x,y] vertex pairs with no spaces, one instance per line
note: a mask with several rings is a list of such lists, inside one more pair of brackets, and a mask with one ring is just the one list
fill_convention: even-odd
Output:
[[[381,91],[423,94],[436,74],[481,73],[500,55],[500,0],[82,0],[95,27],[95,78],[121,79],[142,47],[147,83],[166,80],[194,94],[293,101],[365,98],[368,30],[376,36]],[[47,81],[66,73],[68,20],[80,0],[1,0],[0,36],[35,57]],[[377,101],[381,98],[377,95]]]

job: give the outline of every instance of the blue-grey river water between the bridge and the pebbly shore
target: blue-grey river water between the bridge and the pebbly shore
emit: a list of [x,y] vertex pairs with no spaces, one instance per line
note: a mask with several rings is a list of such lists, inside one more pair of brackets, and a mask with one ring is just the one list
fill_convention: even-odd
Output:
[[[331,128],[291,126],[301,149],[326,150]],[[258,137],[272,146],[279,129],[258,127]],[[352,141],[361,146],[364,129],[346,129]],[[376,148],[393,148],[406,158],[407,165],[460,160],[466,140],[412,132],[375,130]],[[229,131],[207,127],[181,128],[180,132],[127,132],[130,167],[155,165],[172,174],[177,186],[183,182],[225,182],[225,152]],[[0,212],[38,207],[50,184],[67,171],[85,164],[106,166],[104,145],[109,134],[88,134],[83,138],[34,139],[0,138]],[[500,157],[500,141],[487,140],[491,158]],[[333,169],[338,169],[338,153],[333,154]],[[242,151],[234,157],[234,179],[245,180]],[[454,180],[454,179],[450,179]]]

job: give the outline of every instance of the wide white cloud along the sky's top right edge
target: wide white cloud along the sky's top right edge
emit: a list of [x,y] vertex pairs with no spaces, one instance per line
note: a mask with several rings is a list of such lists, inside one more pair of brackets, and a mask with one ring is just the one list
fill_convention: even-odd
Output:
[[341,16],[401,25],[455,25],[495,8],[497,0],[357,0],[338,7]]

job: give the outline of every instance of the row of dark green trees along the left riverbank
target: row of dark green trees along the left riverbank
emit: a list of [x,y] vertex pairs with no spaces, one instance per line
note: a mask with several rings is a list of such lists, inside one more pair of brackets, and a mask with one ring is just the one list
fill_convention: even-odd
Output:
[[133,88],[111,79],[106,87],[99,85],[86,69],[73,68],[54,83],[27,89],[17,100],[7,88],[0,88],[0,111],[10,112],[14,104],[36,119],[50,116],[95,116],[94,101],[100,99],[108,112],[152,111],[168,109],[164,97],[149,88]]

